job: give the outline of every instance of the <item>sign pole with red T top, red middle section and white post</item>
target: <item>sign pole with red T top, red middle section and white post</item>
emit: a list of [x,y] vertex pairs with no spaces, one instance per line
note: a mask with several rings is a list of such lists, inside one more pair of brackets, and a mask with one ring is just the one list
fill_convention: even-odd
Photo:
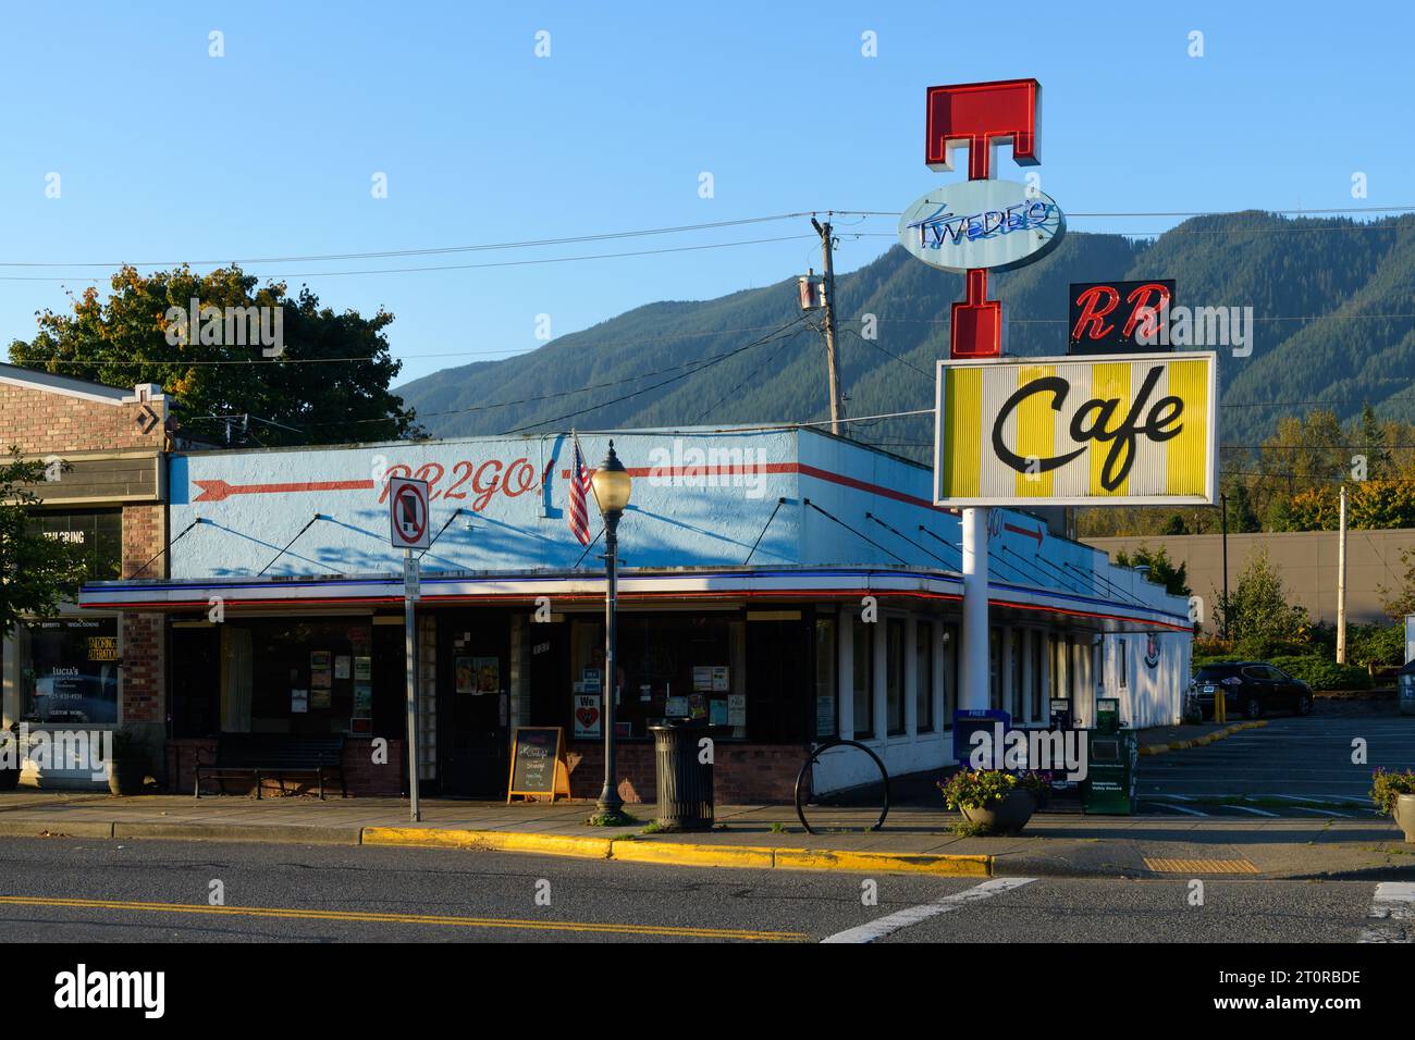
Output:
[[[992,151],[1010,141],[1012,157],[1022,166],[1037,158],[1037,123],[1041,83],[1036,79],[1003,79],[928,88],[925,163],[930,170],[952,170],[951,153],[968,147],[968,180],[992,177]],[[988,269],[971,267],[961,303],[949,323],[949,357],[1002,357],[1002,303],[988,299]],[[988,509],[962,511],[964,625],[961,709],[989,703],[988,649]]]

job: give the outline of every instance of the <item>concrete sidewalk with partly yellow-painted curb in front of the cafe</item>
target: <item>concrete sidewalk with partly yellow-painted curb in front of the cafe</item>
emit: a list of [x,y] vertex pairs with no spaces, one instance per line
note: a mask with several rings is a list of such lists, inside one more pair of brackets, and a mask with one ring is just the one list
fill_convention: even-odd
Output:
[[1415,845],[1391,821],[1174,819],[1037,815],[1016,838],[959,838],[957,814],[904,807],[883,831],[874,812],[790,805],[727,805],[693,835],[645,833],[638,824],[586,825],[593,802],[516,804],[430,799],[410,824],[389,798],[202,798],[20,791],[0,795],[0,838],[195,839],[338,845],[419,845],[692,866],[836,869],[955,876],[1415,879]]

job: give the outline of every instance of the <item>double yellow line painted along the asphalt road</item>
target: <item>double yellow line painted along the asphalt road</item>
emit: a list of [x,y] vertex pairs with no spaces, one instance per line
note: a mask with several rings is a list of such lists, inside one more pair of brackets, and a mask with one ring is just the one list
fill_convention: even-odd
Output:
[[361,924],[440,924],[464,928],[525,928],[531,931],[618,932],[625,935],[665,935],[671,938],[764,940],[792,942],[809,938],[797,931],[758,931],[743,928],[686,928],[666,924],[600,924],[597,921],[528,921],[502,917],[446,917],[441,914],[381,914],[358,910],[300,910],[286,907],[211,907],[200,903],[139,903],[109,899],[42,899],[38,896],[0,896],[0,904],[27,907],[76,907],[82,910],[129,910],[170,914],[222,914],[236,917],[277,917],[306,921],[352,921]]

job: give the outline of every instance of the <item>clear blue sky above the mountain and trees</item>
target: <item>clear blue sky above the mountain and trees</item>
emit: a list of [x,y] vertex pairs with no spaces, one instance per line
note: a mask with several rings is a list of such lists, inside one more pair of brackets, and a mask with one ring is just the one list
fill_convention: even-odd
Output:
[[[222,10],[222,7],[225,10]],[[590,7],[594,11],[589,10]],[[603,13],[597,13],[603,11]],[[613,11],[613,13],[611,13]],[[1085,11],[1084,14],[1081,11]],[[938,184],[924,88],[1036,76],[1067,212],[1415,204],[1407,1],[1358,4],[64,3],[0,14],[0,262],[286,258],[893,209]],[[208,57],[208,33],[225,57]],[[550,55],[535,55],[538,31]],[[1204,55],[1189,57],[1189,34]],[[862,34],[877,57],[862,55]],[[371,178],[388,175],[388,198]],[[713,198],[699,197],[699,174]],[[1368,200],[1351,198],[1351,174]],[[45,198],[47,175],[61,197]],[[1010,158],[999,175],[1020,178]],[[891,232],[869,219],[842,232]],[[1155,232],[1162,218],[1073,218]],[[805,219],[620,242],[246,263],[396,316],[400,382],[659,299],[819,265]],[[852,239],[848,270],[889,238]],[[209,265],[204,265],[209,266]],[[0,342],[110,266],[0,269]],[[40,280],[13,280],[40,279]],[[106,280],[105,280],[106,286]]]

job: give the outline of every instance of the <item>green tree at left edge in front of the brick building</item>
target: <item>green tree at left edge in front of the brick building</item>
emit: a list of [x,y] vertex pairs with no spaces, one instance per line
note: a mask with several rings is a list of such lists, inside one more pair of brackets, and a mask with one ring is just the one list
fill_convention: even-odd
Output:
[[0,466],[0,637],[23,617],[48,617],[78,596],[83,562],[78,546],[45,538],[30,507],[40,498],[30,485],[44,480],[44,464],[21,461],[20,450]]

